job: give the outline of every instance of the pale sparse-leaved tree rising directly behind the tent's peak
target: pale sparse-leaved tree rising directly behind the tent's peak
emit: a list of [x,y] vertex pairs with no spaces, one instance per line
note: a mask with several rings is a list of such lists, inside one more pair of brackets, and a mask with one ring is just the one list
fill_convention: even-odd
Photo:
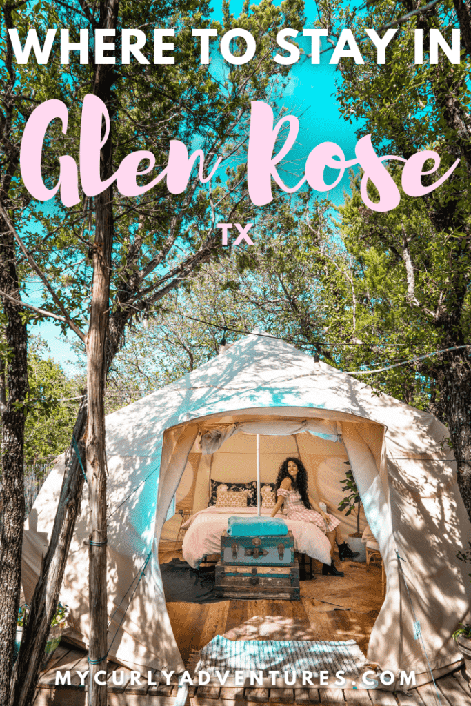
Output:
[[[327,208],[317,203],[311,222]],[[230,345],[256,327],[335,362],[325,345],[328,302],[319,296],[310,232],[303,239],[299,226],[304,210],[302,204],[277,201],[274,213],[260,223],[269,238],[204,263],[196,276],[148,309],[141,323],[129,327],[109,369],[109,411],[201,366],[217,355],[223,337]],[[320,227],[327,238],[330,225]]]

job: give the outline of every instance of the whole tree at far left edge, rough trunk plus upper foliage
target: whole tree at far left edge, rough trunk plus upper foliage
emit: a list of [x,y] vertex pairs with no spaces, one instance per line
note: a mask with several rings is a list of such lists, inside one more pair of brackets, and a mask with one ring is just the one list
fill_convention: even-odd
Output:
[[[20,3],[21,4],[21,3]],[[6,43],[6,29],[19,18],[16,2],[1,4],[0,64],[0,299],[1,328],[4,342],[0,352],[1,407],[1,514],[0,514],[0,702],[8,701],[16,617],[20,605],[20,562],[25,518],[23,480],[23,442],[28,394],[27,331],[20,299],[22,268],[15,239],[8,222],[16,222],[28,197],[18,185],[20,136],[34,99],[41,100],[41,70],[18,69],[11,45]],[[30,17],[34,17],[32,10]],[[8,211],[8,213],[7,213]]]

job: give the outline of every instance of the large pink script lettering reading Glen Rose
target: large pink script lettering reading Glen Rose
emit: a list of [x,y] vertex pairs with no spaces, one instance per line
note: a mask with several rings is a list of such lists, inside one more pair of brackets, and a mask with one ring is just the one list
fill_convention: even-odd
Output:
[[[54,120],[61,120],[62,132],[67,133],[68,111],[66,104],[60,100],[47,100],[40,104],[30,115],[25,125],[20,150],[20,168],[26,189],[33,198],[47,201],[60,189],[61,201],[64,206],[73,206],[80,203],[81,197],[78,190],[78,167],[70,155],[59,157],[59,179],[53,189],[48,189],[44,184],[41,173],[42,151],[47,128]],[[102,123],[105,121],[105,131]],[[275,143],[280,128],[288,124],[287,136],[276,154]],[[434,174],[440,166],[440,157],[437,152],[422,150],[405,160],[395,155],[378,157],[371,144],[371,135],[360,138],[355,146],[355,159],[347,160],[342,149],[334,142],[323,142],[311,150],[304,167],[304,177],[292,187],[287,186],[278,174],[279,164],[292,149],[299,131],[299,120],[294,115],[283,117],[274,125],[273,110],[262,102],[251,104],[251,120],[249,133],[249,148],[247,152],[247,186],[249,198],[256,206],[263,206],[273,201],[272,178],[286,193],[298,191],[304,184],[309,184],[315,191],[329,191],[337,186],[345,174],[345,169],[359,164],[363,169],[361,195],[366,206],[374,211],[390,211],[400,202],[400,191],[395,181],[390,176],[383,162],[398,160],[404,162],[402,173],[402,186],[408,196],[424,196],[437,189],[451,175],[460,160],[454,164],[439,179],[432,184],[424,186],[422,175]],[[205,155],[203,150],[196,150],[188,154],[186,145],[180,140],[170,140],[167,166],[160,174],[149,181],[148,184],[138,184],[137,177],[149,174],[155,167],[155,156],[148,150],[138,150],[124,157],[117,171],[109,179],[102,181],[100,177],[100,150],[109,136],[109,115],[105,103],[97,96],[86,95],[83,100],[81,117],[80,140],[80,179],[85,196],[97,196],[116,181],[116,186],[122,196],[133,198],[141,196],[146,191],[153,189],[165,177],[167,189],[170,193],[183,193],[188,186],[193,167],[199,160],[199,179],[202,184],[212,179],[219,167],[222,157],[218,157],[213,164],[208,176],[205,172]],[[431,169],[424,170],[427,160],[433,160]],[[141,162],[147,161],[148,166],[139,169]],[[338,171],[338,177],[330,184],[326,184],[324,172],[326,167]],[[368,181],[371,181],[378,191],[379,200],[371,201],[366,190]]]

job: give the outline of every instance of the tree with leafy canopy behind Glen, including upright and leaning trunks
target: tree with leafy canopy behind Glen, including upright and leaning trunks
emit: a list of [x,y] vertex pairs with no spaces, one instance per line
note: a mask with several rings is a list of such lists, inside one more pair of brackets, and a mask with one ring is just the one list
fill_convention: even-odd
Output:
[[[215,227],[219,220],[244,221],[257,213],[249,202],[244,185],[244,165],[240,157],[246,145],[251,100],[267,100],[282,88],[288,69],[273,63],[276,28],[283,23],[302,26],[302,3],[268,2],[244,11],[237,20],[225,5],[224,23],[228,30],[237,22],[256,37],[260,60],[253,67],[230,68],[221,83],[207,68],[196,71],[196,47],[189,41],[191,27],[204,26],[208,5],[189,1],[175,10],[172,4],[155,2],[150,6],[106,0],[98,8],[85,2],[52,6],[59,26],[117,29],[121,26],[159,25],[168,19],[177,26],[181,45],[179,64],[162,68],[145,64],[99,64],[92,70],[71,59],[66,80],[61,83],[62,100],[69,113],[67,136],[59,126],[51,126],[47,149],[78,152],[79,108],[85,93],[99,97],[110,120],[109,135],[100,152],[100,178],[116,172],[129,145],[152,146],[157,164],[165,163],[169,137],[182,141],[198,137],[210,169],[222,152],[225,179],[213,188],[191,176],[181,194],[169,194],[162,185],[134,200],[123,198],[112,184],[102,194],[83,197],[68,210],[56,203],[52,213],[30,205],[25,220],[17,227],[8,219],[25,261],[44,285],[47,300],[36,309],[23,306],[35,316],[53,316],[83,340],[88,358],[88,409],[83,402],[74,429],[81,442],[90,485],[90,690],[89,699],[104,703],[106,688],[98,688],[93,676],[103,669],[106,651],[106,474],[104,462],[105,378],[119,350],[126,325],[145,314],[220,249]],[[40,27],[40,30],[43,28]],[[90,32],[91,34],[91,32]],[[23,35],[24,36],[24,35]],[[186,40],[186,41],[185,41]],[[56,61],[57,56],[54,57]],[[160,167],[161,169],[162,167]],[[48,184],[57,178],[57,164],[44,170]],[[1,208],[1,206],[0,206]],[[28,217],[28,225],[26,225]],[[38,236],[37,223],[40,224]],[[23,227],[20,237],[20,227]],[[61,287],[57,286],[61,282]],[[91,297],[83,297],[90,292]],[[90,320],[88,307],[90,306]],[[86,332],[86,333],[85,333]],[[79,443],[81,448],[81,443]],[[44,558],[42,575],[32,601],[28,626],[23,636],[13,675],[11,704],[32,699],[37,666],[52,617],[68,545],[81,496],[81,472],[75,459],[67,465],[58,515]],[[44,610],[44,604],[46,609]]]

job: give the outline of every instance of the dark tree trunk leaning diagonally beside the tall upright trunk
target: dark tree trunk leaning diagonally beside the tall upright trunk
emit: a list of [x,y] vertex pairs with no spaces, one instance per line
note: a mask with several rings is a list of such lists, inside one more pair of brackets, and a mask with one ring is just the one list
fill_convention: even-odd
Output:
[[[83,434],[87,419],[86,396],[78,411],[73,436],[76,439],[81,458],[83,453]],[[84,463],[84,460],[82,461]],[[61,496],[56,511],[52,536],[46,556],[42,561],[40,578],[32,597],[30,614],[25,630],[20,654],[13,669],[10,698],[1,700],[2,706],[30,706],[35,698],[35,690],[40,673],[40,664],[44,655],[49,627],[59,601],[59,591],[64,578],[68,549],[71,544],[73,528],[80,510],[85,478],[80,462],[71,444],[66,455],[66,469],[62,481]],[[23,527],[22,535],[23,535]]]

